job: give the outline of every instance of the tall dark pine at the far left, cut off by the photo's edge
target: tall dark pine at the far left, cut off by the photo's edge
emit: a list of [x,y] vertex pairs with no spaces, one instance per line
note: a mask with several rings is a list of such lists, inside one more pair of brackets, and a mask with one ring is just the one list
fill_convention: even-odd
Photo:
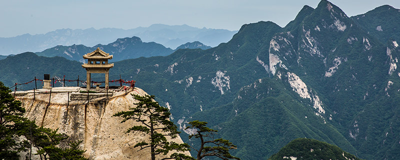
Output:
[[0,157],[4,159],[18,159],[18,152],[23,150],[23,142],[17,127],[25,118],[22,117],[25,109],[21,102],[9,94],[8,87],[0,81]]

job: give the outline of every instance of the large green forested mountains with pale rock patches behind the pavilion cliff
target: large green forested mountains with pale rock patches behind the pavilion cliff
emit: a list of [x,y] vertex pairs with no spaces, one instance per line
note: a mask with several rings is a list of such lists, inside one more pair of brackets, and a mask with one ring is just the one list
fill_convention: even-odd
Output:
[[[316,8],[304,6],[285,27],[270,21],[244,24],[232,39],[213,48],[116,61],[110,79],[119,75],[134,79],[136,86],[154,94],[170,108],[183,141],[195,144],[187,138],[190,130],[184,130],[188,121],[207,121],[219,130],[216,137],[237,145],[232,155],[241,159],[280,156],[280,148],[300,137],[336,145],[346,157],[397,159],[400,32],[395,29],[398,25],[385,18],[379,18],[388,24],[382,22],[381,29],[395,32],[368,31],[376,30],[369,25],[380,24],[374,21],[375,9],[361,16],[371,20],[363,23],[357,21],[358,15],[348,17],[321,0]],[[400,21],[398,16],[392,18]],[[47,58],[23,54],[29,60]],[[18,55],[0,60],[1,66],[22,63],[27,56],[18,59]],[[51,75],[70,75],[74,68],[68,66],[80,67],[76,61],[50,59],[59,63],[47,66]],[[29,76],[43,73],[33,64],[23,67],[32,69],[25,72]],[[13,69],[1,70],[6,74],[0,80],[8,80],[8,85],[23,81]],[[84,76],[84,70],[70,76],[76,74]],[[312,141],[296,143],[302,146]]]

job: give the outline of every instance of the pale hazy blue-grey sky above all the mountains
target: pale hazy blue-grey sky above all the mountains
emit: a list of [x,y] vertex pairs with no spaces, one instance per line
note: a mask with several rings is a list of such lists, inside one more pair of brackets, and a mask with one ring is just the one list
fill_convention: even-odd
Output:
[[[347,16],[400,0],[330,0]],[[280,26],[303,5],[319,0],[0,0],[0,37],[38,34],[61,28],[130,29],[154,23],[238,30],[260,20]]]

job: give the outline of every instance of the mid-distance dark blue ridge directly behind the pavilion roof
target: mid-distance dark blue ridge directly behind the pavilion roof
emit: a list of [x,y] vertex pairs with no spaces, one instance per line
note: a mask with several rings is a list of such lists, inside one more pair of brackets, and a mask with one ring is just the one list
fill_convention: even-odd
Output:
[[[137,36],[118,38],[114,42],[102,45],[97,44],[93,47],[79,45],[63,46],[57,45],[52,48],[45,49],[41,52],[36,52],[40,56],[61,56],[70,60],[84,62],[83,54],[91,52],[99,47],[101,50],[113,54],[114,57],[109,61],[119,61],[124,59],[138,58],[138,57],[151,57],[151,56],[165,56],[172,53],[174,50],[166,48],[162,44],[155,42],[143,42]],[[204,45],[199,41],[187,42],[177,47],[179,48],[201,48],[208,49],[210,46]]]

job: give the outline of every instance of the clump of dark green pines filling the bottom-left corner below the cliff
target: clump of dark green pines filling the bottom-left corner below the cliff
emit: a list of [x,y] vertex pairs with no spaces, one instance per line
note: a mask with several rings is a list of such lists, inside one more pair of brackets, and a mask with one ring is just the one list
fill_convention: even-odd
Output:
[[[72,141],[67,147],[58,144],[68,138],[57,133],[58,129],[38,127],[34,121],[22,117],[25,109],[21,102],[9,94],[11,90],[0,81],[0,157],[2,159],[19,159],[21,151],[29,151],[26,159],[31,159],[32,147],[37,148],[40,159],[75,159],[84,160],[79,149],[82,141]],[[23,140],[25,137],[26,140]]]

